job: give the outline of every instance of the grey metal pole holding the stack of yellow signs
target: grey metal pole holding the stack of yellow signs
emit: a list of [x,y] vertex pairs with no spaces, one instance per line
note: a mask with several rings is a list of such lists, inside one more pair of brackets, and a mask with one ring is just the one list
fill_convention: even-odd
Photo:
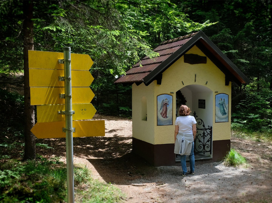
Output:
[[72,83],[71,83],[71,48],[63,47],[64,61],[64,99],[65,99],[65,132],[67,163],[67,198],[68,203],[75,202],[74,196],[74,163],[73,163],[73,118],[72,118]]

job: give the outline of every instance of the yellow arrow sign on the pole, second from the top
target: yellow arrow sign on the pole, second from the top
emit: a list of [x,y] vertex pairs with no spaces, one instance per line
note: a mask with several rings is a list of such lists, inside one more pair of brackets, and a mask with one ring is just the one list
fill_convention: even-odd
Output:
[[[64,77],[64,70],[53,69],[29,69],[30,87],[64,87],[64,81],[58,77]],[[94,80],[89,71],[71,71],[72,87],[89,87]]]

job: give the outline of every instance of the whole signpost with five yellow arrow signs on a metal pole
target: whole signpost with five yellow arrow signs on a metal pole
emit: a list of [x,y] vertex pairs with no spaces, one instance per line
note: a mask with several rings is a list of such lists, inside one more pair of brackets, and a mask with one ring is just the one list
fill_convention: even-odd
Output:
[[75,201],[73,137],[105,135],[104,120],[85,120],[96,112],[88,103],[94,97],[89,88],[94,80],[89,72],[92,64],[89,55],[71,54],[70,47],[64,47],[63,53],[29,50],[30,103],[39,105],[31,132],[37,138],[66,137],[69,203]]

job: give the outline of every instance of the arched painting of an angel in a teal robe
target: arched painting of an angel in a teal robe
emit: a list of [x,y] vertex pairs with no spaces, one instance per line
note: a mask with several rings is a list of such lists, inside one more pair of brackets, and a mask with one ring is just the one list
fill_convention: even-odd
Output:
[[215,122],[228,122],[228,95],[215,95]]

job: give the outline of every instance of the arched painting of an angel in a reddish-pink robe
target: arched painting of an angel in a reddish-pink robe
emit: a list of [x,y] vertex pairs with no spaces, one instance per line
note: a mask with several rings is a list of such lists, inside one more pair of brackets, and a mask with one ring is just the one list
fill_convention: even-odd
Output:
[[173,124],[172,95],[161,94],[157,96],[157,125]]

